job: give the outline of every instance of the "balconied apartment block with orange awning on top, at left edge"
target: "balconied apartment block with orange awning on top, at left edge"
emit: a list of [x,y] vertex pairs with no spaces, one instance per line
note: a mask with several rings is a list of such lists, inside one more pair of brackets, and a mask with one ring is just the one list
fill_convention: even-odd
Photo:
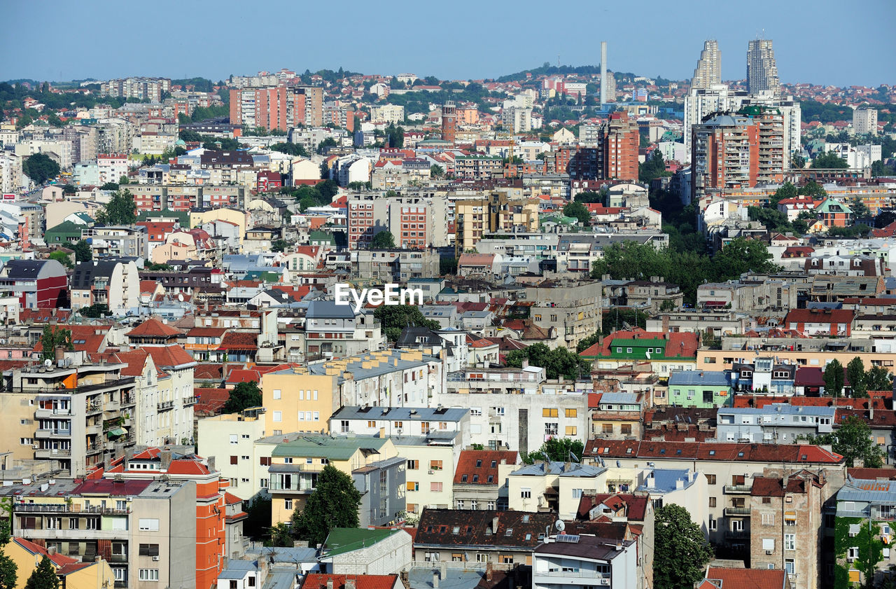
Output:
[[[60,351],[61,352],[61,351]],[[4,375],[2,446],[15,459],[51,461],[71,476],[108,462],[136,442],[134,377],[121,363],[88,364],[81,352]]]

